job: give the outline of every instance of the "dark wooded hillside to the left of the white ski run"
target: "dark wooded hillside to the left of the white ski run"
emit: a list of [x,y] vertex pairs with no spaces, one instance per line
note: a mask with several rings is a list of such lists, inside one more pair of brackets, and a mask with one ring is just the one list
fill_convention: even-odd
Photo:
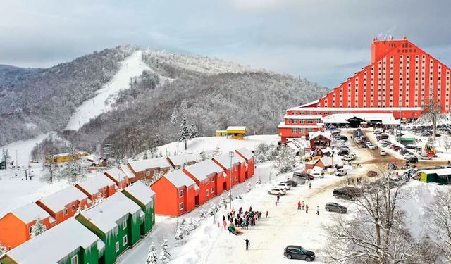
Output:
[[0,146],[66,127],[81,103],[137,49],[120,46],[48,69],[0,68]]

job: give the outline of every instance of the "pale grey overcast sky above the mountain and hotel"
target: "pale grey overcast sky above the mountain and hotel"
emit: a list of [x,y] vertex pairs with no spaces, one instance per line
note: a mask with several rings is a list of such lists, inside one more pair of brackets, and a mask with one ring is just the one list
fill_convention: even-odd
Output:
[[451,65],[451,1],[0,1],[0,64],[50,67],[123,44],[216,56],[335,87],[371,40],[407,38]]

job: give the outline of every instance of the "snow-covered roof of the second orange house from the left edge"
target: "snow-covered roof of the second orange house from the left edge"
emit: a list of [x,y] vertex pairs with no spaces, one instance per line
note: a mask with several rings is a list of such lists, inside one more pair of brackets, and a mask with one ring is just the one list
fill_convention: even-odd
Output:
[[87,198],[86,194],[75,186],[70,186],[61,191],[56,191],[54,194],[45,196],[42,199],[39,199],[39,201],[44,203],[44,205],[54,211],[54,213],[58,213],[59,211],[64,210],[64,206],[69,203],[72,203],[73,201],[82,201]]

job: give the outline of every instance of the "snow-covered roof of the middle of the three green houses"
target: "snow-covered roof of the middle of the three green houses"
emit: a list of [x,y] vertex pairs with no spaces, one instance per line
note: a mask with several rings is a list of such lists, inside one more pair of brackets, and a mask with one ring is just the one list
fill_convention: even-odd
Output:
[[92,206],[80,214],[106,233],[118,226],[116,221],[129,213],[131,215],[139,213],[140,210],[141,207],[137,203],[128,199],[123,193],[117,192],[98,203],[97,206]]

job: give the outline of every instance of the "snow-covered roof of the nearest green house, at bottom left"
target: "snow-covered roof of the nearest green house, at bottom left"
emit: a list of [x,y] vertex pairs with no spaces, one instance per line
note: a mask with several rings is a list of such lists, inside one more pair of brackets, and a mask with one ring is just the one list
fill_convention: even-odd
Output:
[[97,246],[104,246],[99,237],[74,218],[69,218],[6,254],[20,264],[56,264],[78,248],[87,249],[96,241]]

